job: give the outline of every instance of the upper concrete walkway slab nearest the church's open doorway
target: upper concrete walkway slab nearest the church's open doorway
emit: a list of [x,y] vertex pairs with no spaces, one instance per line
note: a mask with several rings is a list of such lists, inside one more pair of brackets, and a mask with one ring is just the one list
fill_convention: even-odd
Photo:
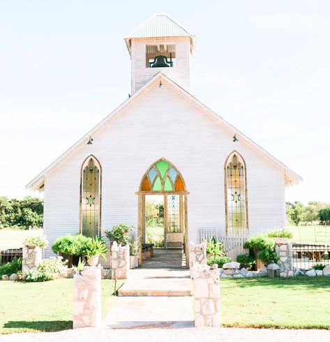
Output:
[[130,278],[118,291],[119,297],[191,295],[188,269],[132,269]]

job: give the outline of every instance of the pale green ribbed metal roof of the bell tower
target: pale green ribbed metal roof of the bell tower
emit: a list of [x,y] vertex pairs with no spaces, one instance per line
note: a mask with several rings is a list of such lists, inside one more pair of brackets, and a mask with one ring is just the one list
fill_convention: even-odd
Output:
[[131,53],[132,38],[190,37],[190,53],[195,50],[195,36],[167,13],[155,13],[125,38],[128,52]]

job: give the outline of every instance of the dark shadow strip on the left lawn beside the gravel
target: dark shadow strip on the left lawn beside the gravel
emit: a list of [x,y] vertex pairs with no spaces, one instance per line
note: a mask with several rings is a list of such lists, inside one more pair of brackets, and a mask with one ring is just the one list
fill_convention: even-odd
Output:
[[13,329],[15,331],[35,332],[59,332],[60,330],[67,330],[73,328],[72,320],[10,320],[3,324],[4,329]]

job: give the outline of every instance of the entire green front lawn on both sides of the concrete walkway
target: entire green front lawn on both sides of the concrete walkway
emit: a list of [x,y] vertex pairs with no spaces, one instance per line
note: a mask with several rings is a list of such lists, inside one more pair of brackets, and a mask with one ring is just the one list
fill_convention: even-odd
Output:
[[[103,316],[113,292],[114,281],[103,280]],[[329,298],[330,277],[223,279],[222,321],[227,327],[330,329]],[[72,279],[0,281],[0,334],[71,329],[72,299]]]

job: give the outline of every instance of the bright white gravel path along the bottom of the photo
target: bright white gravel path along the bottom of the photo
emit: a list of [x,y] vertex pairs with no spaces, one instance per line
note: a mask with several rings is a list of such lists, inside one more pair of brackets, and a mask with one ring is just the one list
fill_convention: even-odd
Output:
[[0,336],[0,341],[157,341],[157,342],[329,342],[329,330],[289,330],[289,329],[240,329],[240,328],[183,328],[183,329],[106,329],[82,328],[62,332],[39,334],[10,334]]

